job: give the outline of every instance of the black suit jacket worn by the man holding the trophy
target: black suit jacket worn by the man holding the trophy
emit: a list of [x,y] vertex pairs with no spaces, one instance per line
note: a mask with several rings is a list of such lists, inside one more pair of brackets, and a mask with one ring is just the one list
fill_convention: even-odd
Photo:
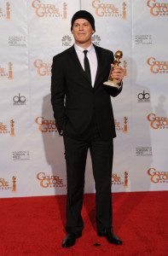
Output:
[[118,90],[103,84],[108,79],[113,52],[94,46],[98,63],[94,88],[74,45],[54,56],[51,71],[51,102],[57,129],[81,140],[90,137],[94,119],[102,139],[116,137],[110,96],[118,96],[122,86]]

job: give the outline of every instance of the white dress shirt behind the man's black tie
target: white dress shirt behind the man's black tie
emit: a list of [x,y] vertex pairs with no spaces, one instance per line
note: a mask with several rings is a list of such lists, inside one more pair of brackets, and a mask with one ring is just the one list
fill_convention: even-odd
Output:
[[[84,48],[79,47],[77,44],[74,44],[74,48],[78,55],[78,60],[80,61],[81,66],[84,69]],[[87,57],[90,61],[90,72],[91,72],[91,84],[94,87],[95,80],[96,80],[96,72],[97,72],[97,56],[96,50],[93,44],[90,44],[90,47],[87,48]]]

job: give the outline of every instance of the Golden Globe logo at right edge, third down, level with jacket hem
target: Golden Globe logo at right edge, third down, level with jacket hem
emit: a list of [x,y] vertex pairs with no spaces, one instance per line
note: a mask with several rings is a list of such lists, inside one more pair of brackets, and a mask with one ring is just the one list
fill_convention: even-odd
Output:
[[155,113],[149,113],[147,119],[153,129],[168,129],[168,118],[158,117]]

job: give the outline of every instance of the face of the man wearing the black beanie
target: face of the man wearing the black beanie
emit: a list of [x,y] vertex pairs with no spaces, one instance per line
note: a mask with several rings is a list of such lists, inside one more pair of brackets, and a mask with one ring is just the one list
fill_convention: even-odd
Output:
[[75,20],[72,26],[72,35],[76,44],[91,43],[91,35],[94,33],[90,22],[85,19]]

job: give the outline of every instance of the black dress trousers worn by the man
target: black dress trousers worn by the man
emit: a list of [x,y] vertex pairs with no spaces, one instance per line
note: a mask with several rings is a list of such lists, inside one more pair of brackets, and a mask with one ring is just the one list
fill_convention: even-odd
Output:
[[113,139],[102,140],[93,122],[92,134],[87,141],[64,135],[67,163],[67,233],[78,234],[84,228],[81,216],[84,197],[84,172],[88,149],[96,183],[96,225],[100,232],[112,227],[112,166]]

